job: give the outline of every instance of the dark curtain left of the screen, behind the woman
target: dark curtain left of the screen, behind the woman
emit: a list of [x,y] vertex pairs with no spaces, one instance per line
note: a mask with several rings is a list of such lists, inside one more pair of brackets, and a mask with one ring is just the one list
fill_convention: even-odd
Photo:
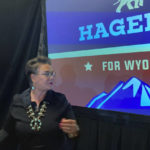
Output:
[[15,93],[28,87],[28,59],[47,55],[45,0],[0,1],[0,125]]

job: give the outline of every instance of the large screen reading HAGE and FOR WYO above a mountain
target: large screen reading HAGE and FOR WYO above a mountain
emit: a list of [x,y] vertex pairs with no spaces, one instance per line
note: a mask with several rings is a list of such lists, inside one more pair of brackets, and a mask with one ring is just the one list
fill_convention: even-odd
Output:
[[72,105],[150,115],[149,2],[50,3],[47,34],[54,89]]

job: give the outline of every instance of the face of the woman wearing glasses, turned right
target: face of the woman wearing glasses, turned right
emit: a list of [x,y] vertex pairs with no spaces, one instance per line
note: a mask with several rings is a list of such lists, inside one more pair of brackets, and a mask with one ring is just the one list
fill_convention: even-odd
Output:
[[49,64],[41,64],[37,69],[37,74],[31,74],[31,80],[35,89],[48,91],[54,83],[55,73]]

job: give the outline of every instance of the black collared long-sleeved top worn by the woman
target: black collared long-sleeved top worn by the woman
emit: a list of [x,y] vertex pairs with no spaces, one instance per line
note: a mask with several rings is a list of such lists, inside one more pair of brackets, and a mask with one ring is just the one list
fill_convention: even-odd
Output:
[[[17,143],[17,150],[62,150],[67,141],[67,136],[59,128],[62,118],[74,119],[71,106],[66,97],[52,90],[48,91],[42,101],[47,109],[41,117],[41,129],[31,129],[31,119],[27,114],[27,107],[35,109],[36,104],[31,103],[30,89],[22,94],[16,94],[9,110],[9,116],[0,130],[0,145]],[[42,106],[40,104],[40,107]],[[5,141],[7,138],[7,142]],[[12,142],[13,141],[13,142]],[[1,148],[0,148],[1,149]],[[3,148],[3,150],[5,150]]]

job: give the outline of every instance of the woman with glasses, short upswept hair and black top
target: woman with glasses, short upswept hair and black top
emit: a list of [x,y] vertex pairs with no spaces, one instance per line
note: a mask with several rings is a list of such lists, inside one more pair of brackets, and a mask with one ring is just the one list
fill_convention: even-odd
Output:
[[51,90],[55,76],[51,61],[33,58],[25,71],[31,87],[14,96],[0,142],[13,135],[17,150],[64,150],[67,138],[76,137],[79,127],[66,97]]

